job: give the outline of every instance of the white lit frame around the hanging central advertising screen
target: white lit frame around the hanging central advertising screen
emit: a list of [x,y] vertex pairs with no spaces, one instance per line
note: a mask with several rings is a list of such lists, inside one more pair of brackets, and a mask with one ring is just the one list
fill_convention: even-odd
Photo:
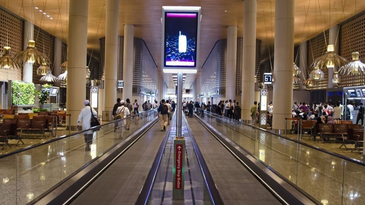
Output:
[[[188,8],[188,7],[187,7]],[[200,43],[200,20],[201,20],[201,15],[200,15],[200,11],[201,9],[184,9],[184,8],[175,8],[175,9],[171,9],[171,8],[164,8],[162,7],[162,55],[161,55],[161,66],[162,66],[162,70],[197,70],[198,66],[199,66],[199,43]],[[174,12],[174,13],[197,13],[197,34],[196,34],[196,48],[195,48],[195,52],[196,52],[196,60],[195,60],[195,66],[166,66],[166,45],[165,45],[165,17],[166,14],[169,12]],[[183,71],[184,72],[184,71]],[[171,73],[171,72],[166,72],[166,73]],[[175,72],[173,72],[175,73]],[[190,72],[189,72],[190,73]]]

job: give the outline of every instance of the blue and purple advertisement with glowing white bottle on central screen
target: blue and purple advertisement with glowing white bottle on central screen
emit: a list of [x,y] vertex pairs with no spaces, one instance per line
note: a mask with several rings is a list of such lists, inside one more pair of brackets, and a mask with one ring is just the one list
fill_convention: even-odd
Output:
[[165,67],[196,67],[198,19],[198,12],[165,12]]

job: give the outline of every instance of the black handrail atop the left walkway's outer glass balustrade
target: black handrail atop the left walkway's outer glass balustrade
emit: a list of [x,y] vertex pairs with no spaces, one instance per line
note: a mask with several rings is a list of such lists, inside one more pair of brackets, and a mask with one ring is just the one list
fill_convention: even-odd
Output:
[[22,148],[22,149],[20,149],[20,150],[16,150],[16,151],[14,151],[14,152],[9,152],[8,154],[0,155],[0,159],[1,159],[1,158],[5,158],[5,157],[7,157],[7,156],[14,155],[14,154],[18,154],[18,153],[20,153],[20,152],[24,152],[24,151],[27,151],[27,150],[33,149],[33,148],[35,148],[35,147],[43,146],[43,145],[45,145],[45,144],[49,144],[49,143],[52,143],[52,142],[55,142],[55,141],[58,141],[58,140],[61,140],[61,139],[65,139],[65,138],[68,138],[68,137],[70,137],[70,136],[78,135],[78,134],[81,134],[81,133],[83,133],[83,132],[86,132],[86,131],[89,131],[89,130],[92,130],[92,129],[97,129],[97,128],[101,128],[101,129],[103,129],[103,127],[104,127],[104,126],[106,126],[106,125],[108,125],[108,124],[118,123],[118,122],[120,122],[120,121],[122,121],[122,120],[125,120],[125,119],[127,119],[127,118],[135,117],[135,116],[141,115],[141,114],[143,114],[143,113],[146,113],[146,112],[152,112],[152,111],[156,112],[156,111],[155,111],[155,109],[151,109],[151,110],[149,110],[149,111],[140,112],[140,113],[138,113],[138,114],[136,114],[136,115],[131,115],[131,116],[125,117],[125,118],[123,118],[123,119],[119,119],[119,120],[115,120],[115,121],[110,121],[110,122],[105,123],[105,124],[101,124],[101,125],[98,125],[98,126],[95,126],[95,127],[91,127],[91,128],[89,128],[89,129],[83,129],[83,130],[80,130],[80,131],[78,131],[78,132],[74,132],[74,133],[72,133],[72,134],[59,136],[59,137],[57,137],[57,138],[50,139],[50,140],[48,140],[48,141],[46,141],[46,142],[43,142],[43,143],[34,144],[34,145],[29,146],[29,147],[25,147],[25,148]]

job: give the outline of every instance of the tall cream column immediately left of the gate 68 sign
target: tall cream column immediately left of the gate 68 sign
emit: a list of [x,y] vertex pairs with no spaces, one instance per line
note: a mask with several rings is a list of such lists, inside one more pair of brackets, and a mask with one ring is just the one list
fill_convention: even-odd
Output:
[[[107,0],[105,23],[105,103],[104,111],[112,111],[116,102],[118,76],[118,13],[119,0]],[[126,97],[131,99],[132,93]],[[123,92],[123,100],[124,92]]]

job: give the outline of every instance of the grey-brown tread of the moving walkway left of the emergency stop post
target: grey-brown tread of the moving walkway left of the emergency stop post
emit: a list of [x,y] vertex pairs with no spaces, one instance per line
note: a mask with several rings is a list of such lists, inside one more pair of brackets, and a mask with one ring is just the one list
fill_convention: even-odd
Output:
[[135,204],[165,132],[157,122],[71,204]]

